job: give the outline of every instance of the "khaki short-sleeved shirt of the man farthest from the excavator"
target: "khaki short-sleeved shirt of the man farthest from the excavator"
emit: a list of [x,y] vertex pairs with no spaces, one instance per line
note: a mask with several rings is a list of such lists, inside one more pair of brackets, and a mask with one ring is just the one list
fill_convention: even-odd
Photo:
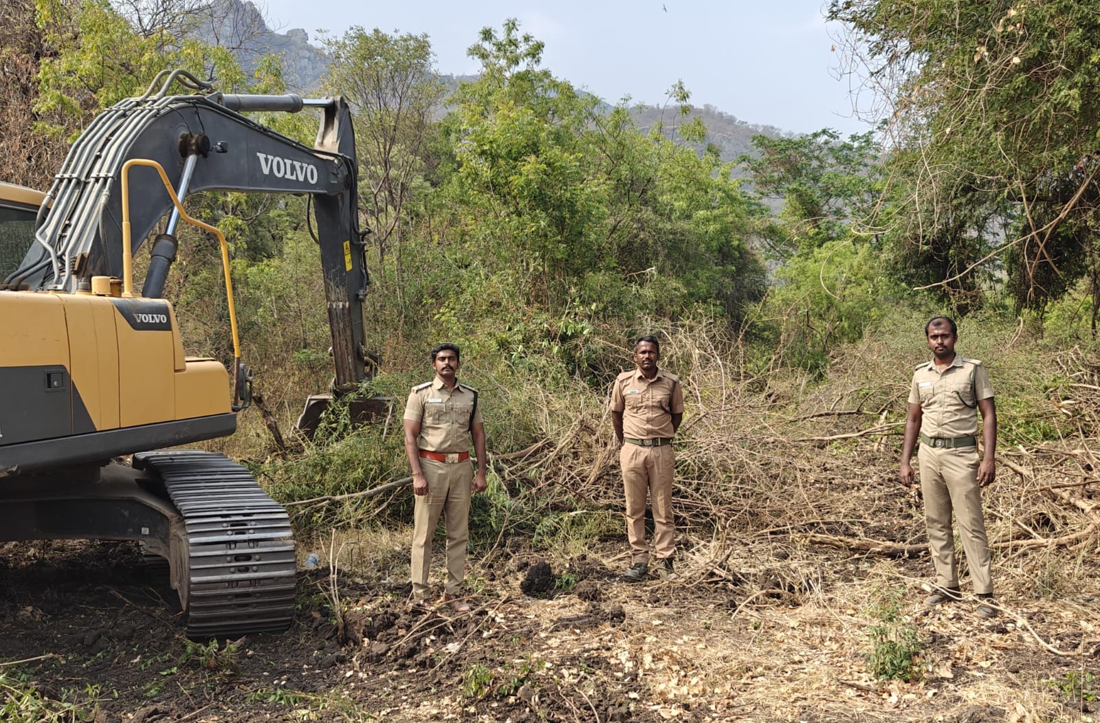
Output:
[[921,405],[922,434],[954,438],[978,434],[978,400],[992,396],[993,388],[981,362],[956,354],[943,371],[935,360],[917,365],[909,403]]

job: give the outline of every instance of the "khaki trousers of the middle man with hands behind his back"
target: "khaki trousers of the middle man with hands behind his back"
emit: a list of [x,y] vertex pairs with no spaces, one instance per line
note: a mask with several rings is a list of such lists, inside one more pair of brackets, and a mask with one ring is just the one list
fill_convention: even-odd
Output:
[[626,536],[635,563],[649,563],[646,544],[646,494],[653,509],[653,554],[658,559],[672,557],[672,471],[675,458],[672,445],[642,447],[624,444],[619,452],[623,488],[626,492]]

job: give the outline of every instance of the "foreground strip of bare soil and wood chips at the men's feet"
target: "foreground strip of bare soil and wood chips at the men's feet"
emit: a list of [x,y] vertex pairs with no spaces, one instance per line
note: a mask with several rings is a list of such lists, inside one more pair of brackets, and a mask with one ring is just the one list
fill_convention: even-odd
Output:
[[[922,608],[926,558],[690,533],[682,546],[680,579],[636,585],[618,580],[620,541],[572,560],[498,549],[472,560],[464,614],[411,608],[394,550],[366,577],[301,571],[290,630],[213,647],[184,638],[166,571],[132,545],[7,544],[0,690],[97,723],[1092,720],[1094,593],[1002,596],[982,621],[972,601]],[[883,590],[903,592],[924,641],[914,682],[869,672]]]

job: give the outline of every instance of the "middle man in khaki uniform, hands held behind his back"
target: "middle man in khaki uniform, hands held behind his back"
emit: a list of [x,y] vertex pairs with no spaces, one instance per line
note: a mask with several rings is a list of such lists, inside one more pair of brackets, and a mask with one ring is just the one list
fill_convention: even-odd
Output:
[[[649,546],[646,543],[646,494],[653,510],[653,554],[657,574],[672,579],[672,471],[675,459],[672,437],[684,415],[680,379],[657,366],[660,343],[642,336],[634,344],[637,369],[624,371],[612,388],[612,424],[623,449],[623,487],[626,492],[626,534],[630,541],[632,564],[623,579],[637,582],[649,572]],[[624,444],[625,443],[625,444]]]

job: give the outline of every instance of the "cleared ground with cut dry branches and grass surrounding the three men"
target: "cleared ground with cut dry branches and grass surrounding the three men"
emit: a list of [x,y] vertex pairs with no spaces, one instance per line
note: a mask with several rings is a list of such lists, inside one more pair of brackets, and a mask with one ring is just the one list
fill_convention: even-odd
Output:
[[[287,634],[198,649],[154,620],[160,637],[144,646],[147,660],[135,658],[128,639],[92,635],[110,629],[97,611],[124,614],[122,629],[142,632],[165,614],[163,600],[142,602],[140,587],[119,580],[130,601],[121,613],[118,598],[88,602],[85,590],[94,610],[69,621],[25,589],[38,576],[4,571],[7,589],[29,603],[22,618],[0,615],[31,645],[16,657],[68,655],[22,663],[11,669],[21,682],[0,683],[20,693],[16,720],[74,705],[103,720],[151,705],[226,721],[380,711],[394,721],[1080,720],[1100,649],[1097,351],[1040,337],[1037,324],[1009,316],[960,325],[959,351],[989,366],[1001,410],[999,475],[985,508],[1002,613],[980,624],[969,599],[921,608],[932,575],[923,513],[897,482],[926,316],[888,311],[860,340],[836,345],[824,375],[779,364],[750,374],[760,360],[727,326],[652,322],[688,407],[676,442],[676,582],[617,580],[629,556],[606,389],[550,356],[540,369],[470,356],[463,378],[483,393],[492,474],[471,515],[469,620],[408,612],[408,485],[318,499],[407,476],[402,394],[389,422],[343,430],[336,421],[301,452],[248,455],[288,503],[302,555],[321,559],[301,572],[301,613]],[[595,333],[608,365],[628,358],[616,341],[625,331]],[[376,389],[398,394],[422,378],[415,368],[387,374]],[[257,418],[242,422],[261,438]],[[50,559],[65,569],[74,563],[63,552]],[[139,575],[118,556],[113,565]],[[531,597],[525,582],[538,565],[550,588]],[[215,663],[185,663],[189,655]],[[87,687],[52,701],[57,676]]]

